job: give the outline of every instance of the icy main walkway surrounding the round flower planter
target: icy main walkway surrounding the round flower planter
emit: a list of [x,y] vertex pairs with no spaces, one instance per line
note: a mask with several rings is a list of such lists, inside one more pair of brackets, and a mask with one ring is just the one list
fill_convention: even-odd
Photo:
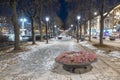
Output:
[[54,59],[62,52],[83,49],[73,40],[53,40],[27,48],[16,57],[0,61],[0,80],[120,80],[119,73],[99,59],[90,72],[65,71]]

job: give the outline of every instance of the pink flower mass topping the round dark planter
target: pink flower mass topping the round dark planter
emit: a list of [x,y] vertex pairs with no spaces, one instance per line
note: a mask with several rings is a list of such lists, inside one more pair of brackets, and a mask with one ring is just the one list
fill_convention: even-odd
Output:
[[70,51],[60,54],[55,58],[56,62],[62,64],[86,64],[96,60],[96,55],[88,51]]

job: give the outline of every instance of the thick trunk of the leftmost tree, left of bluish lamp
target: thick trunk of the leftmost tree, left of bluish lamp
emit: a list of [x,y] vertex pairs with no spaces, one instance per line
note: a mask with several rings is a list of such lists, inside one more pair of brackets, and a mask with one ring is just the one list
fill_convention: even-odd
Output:
[[20,39],[19,39],[19,25],[18,25],[18,17],[17,17],[17,11],[16,11],[16,5],[17,1],[16,0],[11,0],[10,1],[12,10],[13,10],[13,15],[12,15],[12,23],[14,26],[14,35],[15,35],[15,41],[14,41],[14,50],[19,50],[20,49]]

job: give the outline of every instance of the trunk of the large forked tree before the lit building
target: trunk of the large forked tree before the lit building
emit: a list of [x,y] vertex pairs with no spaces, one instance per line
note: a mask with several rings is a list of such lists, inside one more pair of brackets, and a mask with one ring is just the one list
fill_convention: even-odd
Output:
[[101,17],[101,20],[100,20],[100,42],[99,44],[100,45],[103,45],[103,30],[104,30],[104,0],[101,0],[101,12],[100,12],[100,17]]

